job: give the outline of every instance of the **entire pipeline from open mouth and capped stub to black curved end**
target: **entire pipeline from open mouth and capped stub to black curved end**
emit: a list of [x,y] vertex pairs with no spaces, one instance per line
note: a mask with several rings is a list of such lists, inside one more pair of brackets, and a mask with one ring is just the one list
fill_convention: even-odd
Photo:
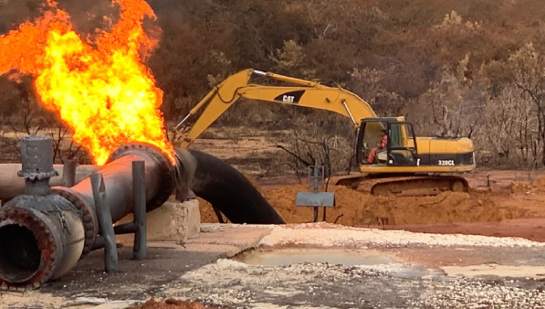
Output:
[[[162,206],[176,188],[178,200],[203,197],[234,223],[284,223],[232,166],[194,150],[175,152],[175,166],[147,144],[121,145],[111,154],[100,173],[112,222],[133,212],[132,163],[143,161],[148,212]],[[66,274],[103,242],[90,178],[72,187],[50,187],[59,172],[49,137],[26,136],[21,153],[22,170],[17,174],[25,179],[25,194],[0,208],[0,290],[37,289]]]

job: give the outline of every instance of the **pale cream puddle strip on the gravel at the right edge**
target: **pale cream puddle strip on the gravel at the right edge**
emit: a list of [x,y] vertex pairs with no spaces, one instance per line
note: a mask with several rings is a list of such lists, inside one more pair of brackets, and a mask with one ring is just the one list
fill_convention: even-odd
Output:
[[481,264],[470,266],[444,266],[441,269],[453,277],[512,277],[545,278],[543,266]]

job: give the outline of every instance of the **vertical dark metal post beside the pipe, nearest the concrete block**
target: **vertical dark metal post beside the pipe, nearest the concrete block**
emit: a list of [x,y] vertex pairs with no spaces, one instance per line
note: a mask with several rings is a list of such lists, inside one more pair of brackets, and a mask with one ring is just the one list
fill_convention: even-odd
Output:
[[134,202],[134,224],[136,225],[132,257],[135,260],[144,260],[147,251],[145,169],[144,161],[132,162],[132,197]]

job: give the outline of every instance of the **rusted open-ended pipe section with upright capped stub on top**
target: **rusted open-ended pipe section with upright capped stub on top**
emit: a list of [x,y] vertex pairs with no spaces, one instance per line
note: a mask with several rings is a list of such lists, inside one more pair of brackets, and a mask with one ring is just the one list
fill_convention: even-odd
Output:
[[33,289],[57,279],[76,265],[83,249],[84,229],[79,214],[65,198],[52,194],[49,178],[53,145],[48,136],[22,139],[25,195],[0,209],[0,286]]

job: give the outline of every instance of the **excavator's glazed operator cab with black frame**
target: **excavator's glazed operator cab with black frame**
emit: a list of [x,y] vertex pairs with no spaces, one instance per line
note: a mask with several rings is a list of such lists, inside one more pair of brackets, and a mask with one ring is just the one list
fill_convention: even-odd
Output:
[[[386,130],[388,144],[377,149],[374,165],[384,166],[416,166],[420,164],[416,149],[416,137],[412,123],[397,118],[368,118],[362,120],[357,143],[357,162],[366,163],[367,157],[382,138],[381,132]],[[370,147],[369,145],[372,145]]]

